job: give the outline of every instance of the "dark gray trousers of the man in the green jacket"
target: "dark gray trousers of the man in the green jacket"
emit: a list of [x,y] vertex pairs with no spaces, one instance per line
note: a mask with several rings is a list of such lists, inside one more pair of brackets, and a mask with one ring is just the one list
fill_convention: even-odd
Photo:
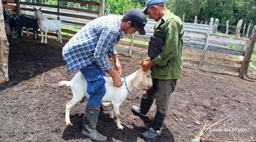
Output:
[[152,78],[153,86],[147,90],[146,94],[142,97],[147,101],[154,101],[156,99],[156,110],[161,114],[165,115],[169,107],[169,100],[171,93],[177,84],[177,79],[175,80],[160,80]]

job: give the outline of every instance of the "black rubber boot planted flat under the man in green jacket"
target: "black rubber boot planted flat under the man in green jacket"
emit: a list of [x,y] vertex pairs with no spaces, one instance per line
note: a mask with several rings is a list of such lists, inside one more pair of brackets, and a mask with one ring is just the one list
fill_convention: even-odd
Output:
[[154,121],[152,124],[152,128],[150,128],[150,130],[142,133],[141,138],[152,139],[152,138],[156,138],[157,136],[159,136],[161,134],[161,128],[163,126],[163,122],[165,120],[165,115],[166,114],[161,114],[159,112],[156,112],[156,115],[154,117]]

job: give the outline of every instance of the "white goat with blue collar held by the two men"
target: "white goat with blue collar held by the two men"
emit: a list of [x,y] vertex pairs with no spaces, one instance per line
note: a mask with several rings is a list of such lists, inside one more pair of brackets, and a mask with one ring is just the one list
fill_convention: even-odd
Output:
[[[148,89],[152,87],[151,71],[144,71],[143,69],[139,69],[135,73],[127,76],[125,79],[126,84],[123,83],[123,86],[121,86],[120,88],[113,86],[113,80],[111,77],[104,77],[104,79],[106,80],[106,94],[101,100],[102,105],[110,105],[111,103],[113,104],[110,110],[110,118],[114,118],[113,111],[115,111],[115,115],[117,117],[117,127],[118,129],[123,129],[124,127],[121,125],[120,122],[119,106],[127,98],[129,94],[128,90],[130,92],[133,91],[134,88],[137,88],[139,86],[139,84],[143,84],[143,86]],[[122,80],[124,79],[122,78]],[[66,104],[65,122],[67,126],[72,126],[73,124],[70,122],[69,119],[70,109],[83,98],[85,98],[85,106],[87,105],[87,101],[89,99],[89,95],[86,91],[87,82],[82,73],[78,72],[71,81],[61,81],[59,82],[59,85],[71,86],[73,98],[69,103]]]

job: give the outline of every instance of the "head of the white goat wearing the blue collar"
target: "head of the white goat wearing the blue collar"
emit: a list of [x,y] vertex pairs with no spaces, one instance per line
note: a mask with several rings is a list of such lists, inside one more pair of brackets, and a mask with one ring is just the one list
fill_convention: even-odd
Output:
[[139,84],[142,84],[147,89],[153,86],[150,69],[148,71],[144,71],[142,68],[138,70],[133,81],[133,87],[137,88]]

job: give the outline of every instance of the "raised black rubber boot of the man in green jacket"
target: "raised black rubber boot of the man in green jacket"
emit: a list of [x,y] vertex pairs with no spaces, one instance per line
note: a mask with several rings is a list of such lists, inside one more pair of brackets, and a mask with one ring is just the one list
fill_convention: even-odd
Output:
[[137,107],[136,105],[132,105],[132,113],[136,116],[139,117],[148,117],[148,112],[154,102],[153,101],[148,101],[144,98],[146,94],[143,94],[141,97],[141,106],[140,108]]

